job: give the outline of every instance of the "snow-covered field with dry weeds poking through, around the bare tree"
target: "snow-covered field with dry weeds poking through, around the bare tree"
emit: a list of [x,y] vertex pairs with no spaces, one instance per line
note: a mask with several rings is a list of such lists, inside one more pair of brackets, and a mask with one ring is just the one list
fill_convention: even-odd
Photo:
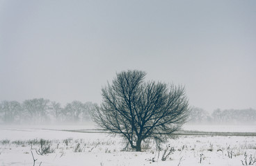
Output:
[[[255,136],[179,136],[157,151],[153,142],[143,152],[125,151],[120,137],[106,133],[81,133],[93,124],[70,126],[0,126],[0,165],[242,165],[256,156]],[[63,131],[70,130],[70,131]],[[187,131],[254,132],[251,126],[185,125]],[[76,132],[74,132],[76,131]],[[90,131],[90,130],[89,130]],[[50,154],[40,155],[40,139]],[[171,148],[175,151],[170,153]],[[166,154],[164,154],[166,149]],[[33,156],[31,154],[33,153]],[[244,154],[247,154],[245,160]],[[232,155],[232,158],[231,158]],[[166,160],[161,160],[166,157]],[[200,162],[201,160],[201,162]],[[254,163],[256,165],[256,163]]]

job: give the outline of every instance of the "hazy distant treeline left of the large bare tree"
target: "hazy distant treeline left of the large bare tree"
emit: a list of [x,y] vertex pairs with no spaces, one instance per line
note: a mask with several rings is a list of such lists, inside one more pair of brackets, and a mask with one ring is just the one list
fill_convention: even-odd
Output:
[[92,102],[74,100],[61,107],[59,102],[44,98],[0,103],[0,124],[42,124],[90,121],[95,106]]

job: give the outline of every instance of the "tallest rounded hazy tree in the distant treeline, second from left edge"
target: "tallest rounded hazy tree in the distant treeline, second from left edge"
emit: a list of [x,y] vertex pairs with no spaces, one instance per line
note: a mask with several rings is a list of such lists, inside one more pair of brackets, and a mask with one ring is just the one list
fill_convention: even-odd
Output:
[[35,98],[32,100],[25,100],[22,104],[26,113],[26,119],[34,123],[45,122],[49,120],[49,100],[43,98]]

